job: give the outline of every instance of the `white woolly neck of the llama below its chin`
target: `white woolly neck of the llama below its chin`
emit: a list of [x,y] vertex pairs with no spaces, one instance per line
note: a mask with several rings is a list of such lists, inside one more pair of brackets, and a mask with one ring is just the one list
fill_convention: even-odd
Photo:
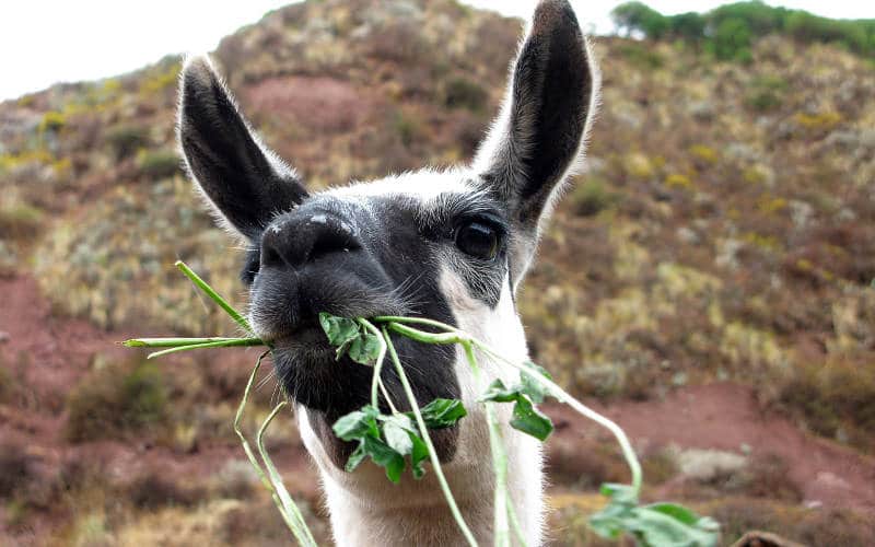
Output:
[[[502,419],[506,423],[510,417]],[[480,439],[488,439],[482,415],[469,415],[466,420],[468,428],[482,428]],[[511,503],[527,536],[527,544],[539,545],[542,513],[540,444],[510,428],[505,428],[504,439]],[[459,457],[445,464],[443,469],[477,543],[490,545],[494,480],[489,444],[486,441],[482,446],[472,447],[475,450],[458,454]],[[336,468],[319,468],[337,545],[466,544],[432,469],[422,480],[415,480],[406,474],[399,485],[393,485],[382,468],[370,463],[357,470],[354,479],[350,474],[337,473]]]

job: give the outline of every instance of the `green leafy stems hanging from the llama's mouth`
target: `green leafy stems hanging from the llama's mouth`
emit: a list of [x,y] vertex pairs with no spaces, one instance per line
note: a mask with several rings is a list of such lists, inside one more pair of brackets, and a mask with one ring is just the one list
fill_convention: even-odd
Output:
[[[255,456],[246,435],[240,427],[249,398],[249,392],[255,383],[261,361],[267,357],[271,348],[268,344],[255,337],[246,318],[188,266],[182,261],[177,261],[176,266],[200,290],[217,302],[245,333],[253,336],[137,338],[127,340],[124,344],[132,348],[164,348],[150,353],[148,356],[149,359],[178,351],[205,348],[252,346],[266,346],[268,348],[259,356],[249,374],[249,380],[235,415],[234,431],[241,439],[246,457],[255,468],[261,484],[270,492],[283,522],[294,535],[295,540],[299,545],[305,547],[315,546],[316,542],[313,538],[313,534],[294,500],[292,500],[283,486],[282,477],[268,455],[264,443],[268,427],[273,418],[288,406],[288,401],[283,400],[275,406],[258,429],[256,446],[260,462]],[[420,479],[425,474],[423,464],[428,459],[432,464],[456,524],[469,545],[476,546],[477,542],[456,504],[441,467],[438,452],[429,434],[430,430],[456,426],[460,419],[467,416],[467,410],[460,400],[443,398],[436,398],[420,407],[395,350],[390,333],[421,344],[459,345],[464,350],[468,365],[471,368],[477,385],[483,385],[478,354],[502,361],[520,371],[520,381],[517,383],[506,386],[501,380],[494,380],[478,398],[478,403],[485,406],[492,467],[495,475],[494,545],[510,546],[512,534],[521,545],[526,545],[517,515],[508,494],[509,468],[508,455],[504,450],[504,430],[499,422],[495,406],[513,403],[510,427],[539,441],[545,441],[552,432],[553,426],[549,417],[541,414],[536,405],[542,403],[546,397],[553,397],[560,403],[568,404],[576,412],[608,429],[620,444],[623,457],[629,465],[631,472],[630,485],[606,484],[602,486],[600,491],[608,498],[608,503],[600,511],[590,516],[590,525],[598,535],[616,539],[623,534],[628,534],[639,545],[643,546],[689,545],[705,547],[716,545],[720,537],[720,526],[712,519],[699,516],[691,510],[674,503],[652,503],[648,505],[639,503],[642,486],[641,464],[626,433],[615,422],[569,395],[553,383],[546,370],[537,364],[530,361],[516,362],[504,358],[495,349],[465,331],[428,318],[398,316],[348,318],[322,313],[319,314],[319,323],[323,330],[325,330],[328,342],[337,348],[338,359],[346,354],[357,363],[373,366],[370,404],[339,418],[332,426],[334,432],[338,438],[359,443],[347,461],[347,470],[353,470],[365,458],[370,457],[374,464],[385,468],[386,476],[390,481],[398,482],[407,467],[408,459],[415,479]],[[434,331],[424,330],[423,328],[430,328]],[[410,411],[399,411],[383,384],[381,371],[387,356],[401,383]],[[383,414],[380,410],[381,393],[389,414]]]

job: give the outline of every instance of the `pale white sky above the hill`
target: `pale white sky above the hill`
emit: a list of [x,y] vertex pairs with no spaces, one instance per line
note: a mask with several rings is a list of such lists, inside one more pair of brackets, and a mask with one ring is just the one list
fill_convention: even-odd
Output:
[[[535,0],[463,0],[525,18]],[[612,31],[609,13],[621,1],[571,0],[587,31]],[[730,0],[650,0],[662,13],[708,11]],[[167,54],[201,53],[283,0],[26,0],[9,1],[0,19],[0,101],[60,81],[96,80],[136,70]],[[775,4],[774,1],[767,3]],[[875,2],[784,0],[777,4],[835,19],[875,18]]]

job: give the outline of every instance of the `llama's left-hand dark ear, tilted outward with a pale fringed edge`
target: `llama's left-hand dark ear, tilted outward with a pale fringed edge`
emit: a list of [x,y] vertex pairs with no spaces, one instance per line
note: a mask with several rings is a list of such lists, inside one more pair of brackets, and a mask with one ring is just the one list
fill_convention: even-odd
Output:
[[307,193],[237,110],[209,58],[186,60],[179,88],[178,139],[186,165],[221,219],[254,240],[277,211]]

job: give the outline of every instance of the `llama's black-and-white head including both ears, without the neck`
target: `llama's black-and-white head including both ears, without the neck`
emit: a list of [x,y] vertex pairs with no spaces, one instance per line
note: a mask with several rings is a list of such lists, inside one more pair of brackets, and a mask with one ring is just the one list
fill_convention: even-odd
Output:
[[[178,138],[188,171],[221,223],[248,244],[243,281],[277,376],[306,407],[336,465],[351,446],[330,424],[369,401],[371,369],[335,360],[319,312],[416,315],[525,348],[514,294],[556,196],[581,160],[597,75],[567,1],[536,9],[506,98],[474,162],[319,193],[268,151],[206,57],[187,60]],[[399,338],[418,400],[468,398],[456,351]],[[392,368],[384,382],[405,399]],[[454,428],[455,429],[455,428]],[[454,429],[435,438],[456,451]]]

